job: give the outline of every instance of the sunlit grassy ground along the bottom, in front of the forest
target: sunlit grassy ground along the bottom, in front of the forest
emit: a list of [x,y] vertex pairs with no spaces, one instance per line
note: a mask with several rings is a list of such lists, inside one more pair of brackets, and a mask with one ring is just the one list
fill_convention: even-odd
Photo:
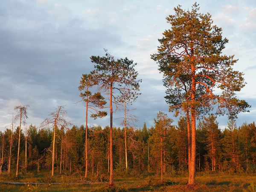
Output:
[[[99,181],[102,180],[102,181]],[[49,173],[46,174],[32,174],[16,178],[15,176],[8,177],[5,173],[0,175],[0,182],[52,182],[63,184],[44,184],[39,186],[31,186],[30,184],[24,186],[14,185],[0,185],[0,191],[3,192],[121,192],[121,191],[135,191],[135,192],[256,192],[256,175],[246,174],[198,174],[196,177],[197,185],[192,189],[186,186],[187,175],[167,176],[164,178],[164,183],[161,182],[159,176],[138,176],[138,177],[115,177],[116,187],[108,188],[107,181],[104,177],[92,180],[84,180],[82,175],[55,175],[51,177]],[[89,183],[89,184],[88,184]]]

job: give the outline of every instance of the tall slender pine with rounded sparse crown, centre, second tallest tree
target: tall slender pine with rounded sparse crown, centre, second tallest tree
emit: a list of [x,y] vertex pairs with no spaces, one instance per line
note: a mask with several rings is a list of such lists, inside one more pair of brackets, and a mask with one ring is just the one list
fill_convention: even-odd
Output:
[[[106,51],[107,52],[107,51]],[[137,99],[141,80],[137,80],[136,64],[132,60],[115,60],[108,52],[105,57],[91,56],[91,61],[96,65],[91,72],[97,82],[99,90],[109,96],[110,108],[110,186],[113,186],[113,104],[119,105]],[[117,91],[115,93],[114,91]]]

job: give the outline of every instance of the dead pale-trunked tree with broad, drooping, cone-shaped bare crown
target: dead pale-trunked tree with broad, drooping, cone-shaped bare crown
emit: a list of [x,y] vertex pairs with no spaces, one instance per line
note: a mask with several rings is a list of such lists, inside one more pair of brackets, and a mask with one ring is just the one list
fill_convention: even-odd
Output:
[[41,127],[52,127],[53,128],[53,141],[52,141],[52,176],[54,175],[54,157],[55,157],[55,137],[56,137],[56,128],[58,127],[68,127],[72,125],[70,122],[65,120],[67,111],[64,110],[64,106],[58,106],[55,108],[49,118],[45,119],[41,123]]

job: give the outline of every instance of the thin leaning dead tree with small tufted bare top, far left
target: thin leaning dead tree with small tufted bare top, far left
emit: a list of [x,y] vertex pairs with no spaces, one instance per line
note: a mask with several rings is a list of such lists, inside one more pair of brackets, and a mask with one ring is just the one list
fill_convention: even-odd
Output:
[[17,115],[14,117],[14,119],[15,119],[15,121],[20,120],[16,177],[18,176],[18,167],[19,167],[21,124],[26,125],[26,119],[28,119],[28,116],[27,116],[28,107],[29,107],[29,105],[24,105],[24,106],[17,105],[14,108],[14,110],[17,111]]

